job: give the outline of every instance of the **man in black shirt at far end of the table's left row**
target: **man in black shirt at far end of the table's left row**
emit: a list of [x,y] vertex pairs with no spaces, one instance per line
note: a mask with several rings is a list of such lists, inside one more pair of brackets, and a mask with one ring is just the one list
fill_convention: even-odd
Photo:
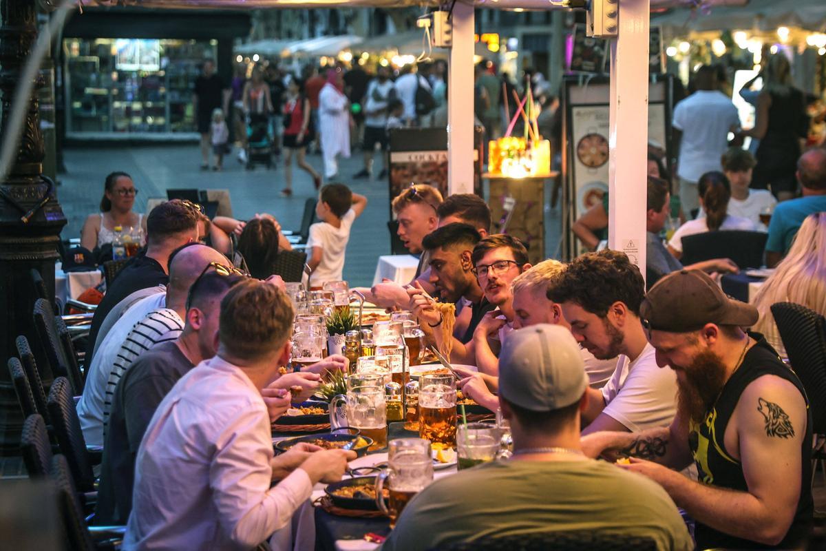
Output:
[[154,207],[146,219],[145,254],[132,259],[117,274],[97,305],[89,330],[86,365],[92,364],[97,333],[109,311],[133,292],[169,283],[169,254],[182,245],[198,241],[209,220],[192,203],[173,199]]

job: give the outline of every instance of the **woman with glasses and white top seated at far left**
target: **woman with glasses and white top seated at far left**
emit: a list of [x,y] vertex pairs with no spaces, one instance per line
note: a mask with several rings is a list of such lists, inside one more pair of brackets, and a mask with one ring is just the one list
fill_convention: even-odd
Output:
[[83,229],[80,230],[80,245],[93,250],[112,243],[116,226],[121,226],[125,232],[130,228],[140,228],[140,245],[145,245],[146,218],[132,211],[137,194],[138,190],[135,189],[135,183],[129,174],[110,173],[104,183],[101,211],[86,218]]

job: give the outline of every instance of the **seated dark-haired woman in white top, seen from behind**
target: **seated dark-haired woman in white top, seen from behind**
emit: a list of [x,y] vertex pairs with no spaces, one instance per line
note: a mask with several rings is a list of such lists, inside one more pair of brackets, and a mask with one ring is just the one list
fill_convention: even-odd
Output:
[[731,184],[724,173],[712,171],[703,174],[697,182],[697,191],[700,193],[700,207],[705,211],[705,218],[687,221],[674,232],[672,239],[668,241],[668,250],[676,259],[682,256],[682,238],[686,235],[717,230],[754,231],[757,229],[754,222],[729,215]]

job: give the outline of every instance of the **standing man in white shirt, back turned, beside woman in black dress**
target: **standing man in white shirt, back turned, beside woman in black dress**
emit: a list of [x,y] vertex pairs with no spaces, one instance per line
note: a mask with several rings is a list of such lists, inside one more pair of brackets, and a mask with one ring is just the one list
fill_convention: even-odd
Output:
[[676,104],[672,122],[679,161],[680,201],[688,215],[700,207],[697,181],[704,173],[719,170],[719,159],[728,147],[729,132],[738,131],[737,107],[717,89],[717,73],[703,65],[695,74],[697,91]]

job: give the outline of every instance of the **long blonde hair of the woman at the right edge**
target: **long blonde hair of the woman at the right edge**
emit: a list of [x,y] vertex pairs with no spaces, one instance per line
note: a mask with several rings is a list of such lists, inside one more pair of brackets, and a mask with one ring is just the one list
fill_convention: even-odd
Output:
[[762,333],[777,354],[786,358],[786,348],[771,316],[771,305],[776,302],[794,302],[826,316],[826,212],[806,217],[789,254],[754,297],[760,319],[752,330]]

